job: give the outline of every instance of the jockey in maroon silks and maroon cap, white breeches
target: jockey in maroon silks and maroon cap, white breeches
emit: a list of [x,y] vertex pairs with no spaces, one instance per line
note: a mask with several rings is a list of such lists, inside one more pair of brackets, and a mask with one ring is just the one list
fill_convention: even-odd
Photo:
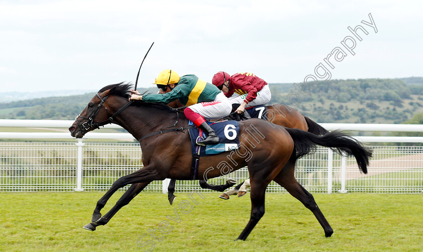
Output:
[[[243,113],[243,117],[249,117],[248,113],[244,112],[247,104],[247,107],[264,105],[271,98],[267,83],[253,73],[238,73],[229,76],[225,72],[219,72],[213,76],[212,83],[223,91],[231,103],[234,103],[233,105],[236,104],[236,111]],[[236,95],[231,97],[234,93]]]

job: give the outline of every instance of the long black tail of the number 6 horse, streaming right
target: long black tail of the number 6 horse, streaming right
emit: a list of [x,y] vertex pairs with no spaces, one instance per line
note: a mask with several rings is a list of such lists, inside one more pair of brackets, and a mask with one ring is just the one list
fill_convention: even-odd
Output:
[[369,165],[369,158],[372,157],[372,151],[365,148],[362,143],[354,138],[343,134],[339,131],[328,132],[323,136],[316,136],[310,132],[305,132],[297,129],[285,128],[294,140],[294,153],[290,161],[297,161],[300,157],[313,153],[316,151],[316,145],[321,145],[329,148],[342,148],[349,150],[353,155],[360,171],[367,174],[367,166]]

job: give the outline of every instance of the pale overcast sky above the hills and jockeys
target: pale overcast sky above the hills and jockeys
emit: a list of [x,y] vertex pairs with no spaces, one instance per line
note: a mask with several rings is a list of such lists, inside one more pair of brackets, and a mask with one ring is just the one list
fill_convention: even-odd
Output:
[[[151,87],[172,69],[300,83],[335,47],[331,79],[423,76],[420,1],[0,1],[0,92]],[[361,21],[371,22],[375,29]],[[347,29],[361,25],[362,41]],[[356,40],[352,55],[341,41]],[[347,44],[351,46],[351,41]],[[342,56],[339,54],[338,56]],[[328,68],[327,65],[324,65]],[[321,79],[319,79],[321,80]]]

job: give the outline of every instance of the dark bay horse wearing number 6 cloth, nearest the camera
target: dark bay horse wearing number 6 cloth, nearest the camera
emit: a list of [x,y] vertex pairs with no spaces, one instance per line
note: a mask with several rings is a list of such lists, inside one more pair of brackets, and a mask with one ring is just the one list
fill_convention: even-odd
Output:
[[[191,144],[188,119],[183,113],[160,103],[143,101],[128,102],[130,84],[113,84],[102,88],[69,127],[70,135],[82,138],[87,132],[102,125],[115,123],[138,140],[142,149],[143,168],[118,178],[97,202],[91,223],[85,229],[94,231],[107,224],[120,208],[127,205],[137,194],[154,180],[173,178],[191,179]],[[164,130],[170,125],[170,130]],[[340,132],[323,136],[284,128],[262,119],[239,122],[240,148],[234,155],[221,153],[203,157],[199,161],[198,177],[213,178],[247,166],[251,183],[251,215],[238,239],[245,240],[264,215],[264,196],[270,181],[284,186],[290,193],[297,192],[298,199],[309,208],[322,225],[325,236],[331,236],[332,228],[318,208],[313,196],[295,179],[290,167],[298,158],[312,152],[316,145],[347,148],[355,156],[361,172],[367,173],[371,151],[357,140]],[[178,133],[179,134],[176,134]],[[231,169],[220,169],[222,163],[232,164]],[[116,204],[102,216],[100,210],[110,197],[125,185],[131,184]],[[293,193],[292,193],[293,194]]]

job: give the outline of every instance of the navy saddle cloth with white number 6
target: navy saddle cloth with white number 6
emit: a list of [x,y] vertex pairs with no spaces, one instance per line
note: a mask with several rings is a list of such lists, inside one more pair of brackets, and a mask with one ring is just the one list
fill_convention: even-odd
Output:
[[[202,132],[202,136],[199,136],[199,130],[189,129],[189,136],[191,138],[191,151],[192,155],[199,154],[200,157],[212,156],[225,151],[236,150],[239,147],[239,123],[238,121],[219,121],[210,122],[207,121],[208,125],[216,132],[219,137],[219,144],[199,146],[197,141],[205,139],[207,136]],[[194,125],[189,121],[189,125]]]

